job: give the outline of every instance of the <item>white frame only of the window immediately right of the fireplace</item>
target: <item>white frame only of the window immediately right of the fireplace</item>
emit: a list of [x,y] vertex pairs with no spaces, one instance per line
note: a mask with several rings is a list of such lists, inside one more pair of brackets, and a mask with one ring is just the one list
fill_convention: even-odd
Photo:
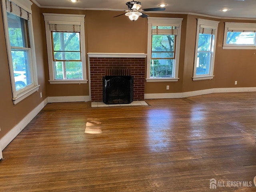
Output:
[[[180,36],[181,36],[181,24],[183,18],[160,18],[160,17],[148,17],[148,57],[147,57],[147,76],[146,82],[170,82],[178,81],[178,69],[180,60]],[[173,66],[172,78],[150,78],[150,60],[151,60],[151,47],[152,47],[152,26],[177,26],[178,34],[176,35],[176,48],[175,59]]]

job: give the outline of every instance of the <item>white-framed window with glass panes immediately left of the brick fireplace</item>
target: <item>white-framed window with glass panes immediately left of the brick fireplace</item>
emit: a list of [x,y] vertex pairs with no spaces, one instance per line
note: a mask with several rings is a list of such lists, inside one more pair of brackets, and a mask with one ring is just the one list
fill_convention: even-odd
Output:
[[84,17],[44,13],[51,84],[87,83]]

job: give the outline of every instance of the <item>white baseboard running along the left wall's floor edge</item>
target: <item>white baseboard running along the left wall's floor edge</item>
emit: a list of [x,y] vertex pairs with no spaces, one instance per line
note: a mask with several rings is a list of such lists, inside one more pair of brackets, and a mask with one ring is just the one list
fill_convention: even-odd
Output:
[[26,115],[14,128],[0,139],[0,148],[3,150],[25,127],[26,125],[46,106],[48,98],[43,100],[36,108]]

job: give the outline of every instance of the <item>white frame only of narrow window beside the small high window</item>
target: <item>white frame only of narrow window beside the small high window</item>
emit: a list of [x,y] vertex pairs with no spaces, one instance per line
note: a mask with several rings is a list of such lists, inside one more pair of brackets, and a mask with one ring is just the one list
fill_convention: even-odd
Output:
[[[195,55],[194,55],[194,72],[193,72],[193,81],[196,80],[207,80],[212,79],[214,77],[213,71],[214,71],[214,60],[215,60],[215,52],[216,52],[216,45],[217,45],[217,32],[218,32],[218,21],[212,21],[212,20],[205,20],[205,19],[197,19],[197,29],[196,29],[196,49],[195,49]],[[214,29],[214,42],[213,42],[213,48],[212,48],[212,54],[210,59],[210,70],[209,74],[196,74],[196,64],[197,64],[197,54],[198,54],[198,40],[199,40],[199,33],[200,28],[210,28]]]

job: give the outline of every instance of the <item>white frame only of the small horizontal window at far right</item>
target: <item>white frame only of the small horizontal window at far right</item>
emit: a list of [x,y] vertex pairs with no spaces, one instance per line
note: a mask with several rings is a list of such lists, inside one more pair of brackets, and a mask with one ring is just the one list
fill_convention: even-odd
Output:
[[238,31],[256,31],[256,23],[235,23],[235,22],[225,22],[224,29],[224,40],[222,49],[255,49],[256,38],[254,39],[254,44],[226,44],[228,30],[238,30]]

